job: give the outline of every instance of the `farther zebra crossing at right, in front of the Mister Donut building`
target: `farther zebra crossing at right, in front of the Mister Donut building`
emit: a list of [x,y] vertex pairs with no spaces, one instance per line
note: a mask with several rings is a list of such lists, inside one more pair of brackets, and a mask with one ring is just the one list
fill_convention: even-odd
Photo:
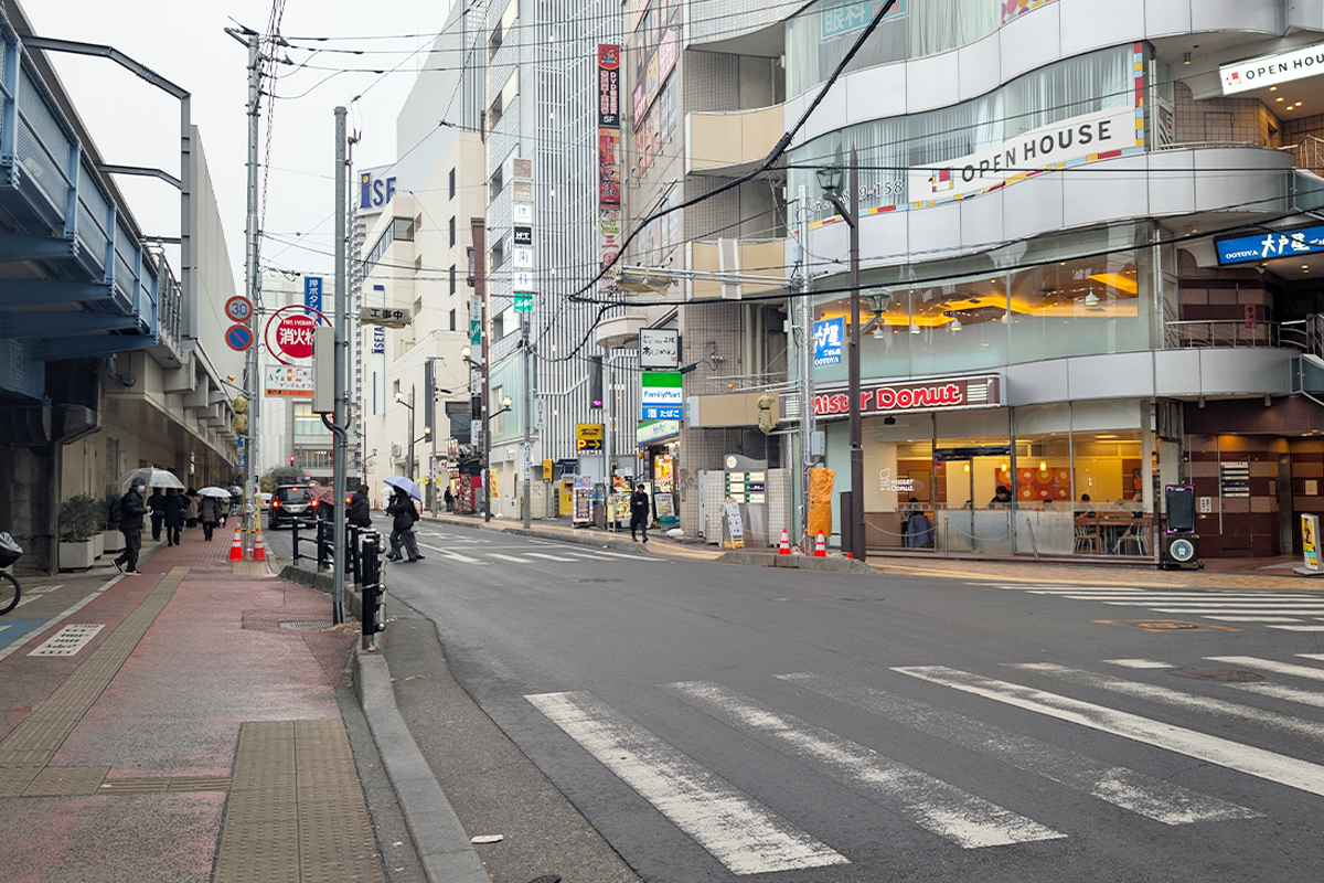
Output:
[[1309,592],[1204,592],[1144,589],[1116,585],[1054,585],[1042,582],[970,582],[984,588],[1096,601],[1115,608],[1144,608],[1155,613],[1192,616],[1214,622],[1262,625],[1283,631],[1324,631],[1324,594]]

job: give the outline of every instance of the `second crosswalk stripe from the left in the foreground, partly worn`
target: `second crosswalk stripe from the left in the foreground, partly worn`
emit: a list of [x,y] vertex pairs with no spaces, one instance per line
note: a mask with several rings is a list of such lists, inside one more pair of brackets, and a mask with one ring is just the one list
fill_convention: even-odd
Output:
[[706,682],[673,683],[665,690],[793,757],[813,759],[835,781],[899,810],[912,823],[963,849],[1066,837],[873,748],[794,715],[773,711],[733,690]]

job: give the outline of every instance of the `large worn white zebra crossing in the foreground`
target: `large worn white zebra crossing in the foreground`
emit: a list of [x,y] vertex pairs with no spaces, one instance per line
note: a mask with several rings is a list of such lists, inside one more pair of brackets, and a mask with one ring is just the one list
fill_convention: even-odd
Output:
[[[1308,798],[1324,797],[1324,765],[1304,760],[1317,756],[1324,743],[1324,723],[1308,716],[1324,708],[1324,654],[1291,659],[1205,657],[1197,665],[1237,666],[1246,679],[1206,679],[1204,692],[1158,683],[1177,671],[1190,671],[1189,661],[1182,663],[1185,669],[1156,659],[1103,659],[1098,665],[1102,671],[1049,662],[1005,662],[993,671],[895,666],[880,675],[883,686],[798,671],[769,676],[765,687],[757,687],[768,696],[748,695],[748,684],[743,692],[715,680],[657,684],[671,700],[719,724],[723,744],[716,752],[702,740],[686,744],[685,733],[673,732],[670,741],[654,735],[628,711],[591,692],[530,694],[526,700],[735,875],[855,859],[846,843],[837,842],[849,842],[849,837],[831,827],[809,830],[802,821],[806,813],[772,805],[756,782],[740,777],[739,765],[718,769],[695,760],[695,753],[740,757],[757,744],[796,764],[801,776],[808,768],[875,805],[878,818],[862,819],[862,825],[882,825],[886,818],[957,850],[1088,839],[1098,830],[1098,810],[1090,809],[1095,805],[1162,826],[1156,831],[1249,823],[1284,812],[1274,794],[1256,800],[1247,780]],[[937,690],[925,690],[925,700],[920,700],[915,682]],[[986,700],[976,706],[982,711],[953,711],[951,706],[972,707],[959,699],[963,694]],[[1100,695],[1113,699],[1100,700]],[[1295,703],[1303,715],[1251,704],[1259,696]],[[873,716],[876,725],[866,728],[863,737],[873,744],[865,744],[858,732],[853,739],[816,723],[813,710],[824,714],[816,704],[822,699]],[[1181,723],[1169,711],[1180,714]],[[657,719],[658,711],[650,707],[649,714]],[[997,723],[984,716],[996,716]],[[1038,723],[1045,719],[1058,728],[1045,729]],[[1229,720],[1238,723],[1235,729],[1229,729]],[[1061,724],[1071,729],[1061,731]],[[898,727],[923,737],[883,732]],[[1076,737],[1074,728],[1102,735],[1104,741]],[[1050,740],[1042,732],[1059,735]],[[945,753],[932,749],[937,743],[990,763],[977,765],[977,777],[960,765],[952,773],[944,765]],[[1149,753],[1136,768],[1119,764],[1115,759],[1127,744],[1160,749],[1157,765]],[[1284,744],[1299,747],[1287,751]],[[1084,745],[1092,745],[1095,753]],[[1217,768],[1218,776],[1194,780],[1200,788],[1178,784],[1192,781],[1181,776],[1190,760]],[[1058,808],[1057,817],[1047,809],[1035,812],[1033,805],[1004,806],[978,793],[989,788],[982,774],[989,769],[1013,777],[1014,794],[1050,788],[1074,797],[1045,801],[1045,806]],[[974,781],[957,778],[963,774]],[[1008,786],[996,788],[1009,793]],[[1320,809],[1324,804],[1313,812]],[[793,823],[790,817],[801,822]]]

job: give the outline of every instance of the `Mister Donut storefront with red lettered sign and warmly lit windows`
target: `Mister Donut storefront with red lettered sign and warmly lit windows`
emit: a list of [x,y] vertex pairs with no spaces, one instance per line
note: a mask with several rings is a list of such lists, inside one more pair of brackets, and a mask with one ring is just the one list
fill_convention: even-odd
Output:
[[[990,556],[1151,559],[1160,481],[1148,398],[1009,406],[1004,372],[863,380],[865,524],[870,548]],[[835,491],[850,479],[845,384],[816,391]],[[1172,443],[1169,459],[1177,459]],[[1014,506],[994,503],[998,487]],[[1088,500],[1082,498],[1088,495]],[[833,522],[841,511],[833,496]],[[923,514],[931,528],[908,530]]]

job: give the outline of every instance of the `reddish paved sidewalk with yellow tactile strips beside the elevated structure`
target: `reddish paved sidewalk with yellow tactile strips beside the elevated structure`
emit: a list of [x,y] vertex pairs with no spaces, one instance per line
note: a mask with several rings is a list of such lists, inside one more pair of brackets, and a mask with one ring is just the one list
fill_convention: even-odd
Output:
[[385,879],[336,700],[357,634],[229,539],[24,579],[0,618],[7,879]]

